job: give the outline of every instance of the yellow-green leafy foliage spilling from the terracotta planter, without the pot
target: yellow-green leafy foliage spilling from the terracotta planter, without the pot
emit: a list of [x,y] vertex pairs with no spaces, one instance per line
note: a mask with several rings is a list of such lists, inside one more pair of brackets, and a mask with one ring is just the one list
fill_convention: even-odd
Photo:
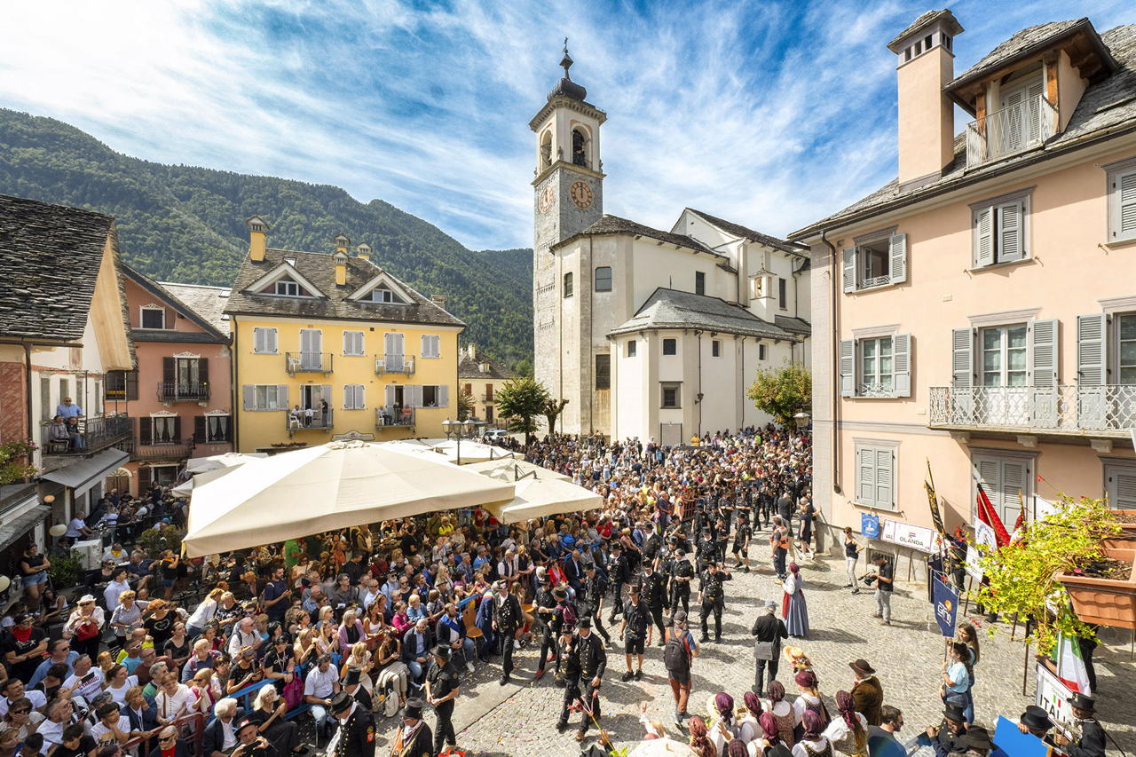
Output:
[[1059,633],[1093,638],[1093,630],[1074,615],[1060,580],[1102,560],[1101,541],[1120,530],[1104,500],[1062,496],[1054,513],[1026,521],[1020,535],[1005,547],[977,546],[986,581],[975,599],[992,613],[1031,618],[1026,640],[1035,642],[1042,655],[1050,654]]

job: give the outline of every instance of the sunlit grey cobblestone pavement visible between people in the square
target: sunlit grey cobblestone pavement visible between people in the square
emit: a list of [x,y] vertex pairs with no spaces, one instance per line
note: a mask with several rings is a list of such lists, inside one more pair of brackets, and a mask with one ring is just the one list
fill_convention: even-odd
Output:
[[[754,542],[751,548],[754,558],[768,554],[763,544],[757,544],[758,538]],[[937,724],[942,713],[938,673],[944,642],[930,613],[926,587],[904,581],[907,561],[901,559],[896,569],[891,626],[879,625],[870,617],[875,610],[871,592],[853,596],[851,590],[842,588],[846,580],[843,559],[818,556],[817,560],[804,560],[801,565],[811,633],[807,641],[791,642],[804,648],[812,659],[829,712],[836,712],[832,701],[836,691],[851,685],[852,672],[847,663],[863,657],[878,671],[885,704],[897,706],[904,713],[907,727],[902,735],[912,738],[917,729]],[[863,565],[860,567],[862,574]],[[704,714],[708,698],[718,691],[730,693],[741,704],[742,694],[753,684],[750,626],[759,606],[767,599],[780,604],[782,590],[774,580],[768,560],[749,574],[740,569],[733,571],[733,574],[734,580],[726,584],[722,642],[704,644],[701,657],[694,660],[694,688],[688,706],[692,714]],[[607,612],[604,609],[604,615]],[[696,618],[692,604],[692,630],[695,630]],[[982,623],[980,617],[971,616],[971,621],[976,625]],[[982,637],[982,660],[976,667],[976,722],[987,726],[993,726],[997,714],[1016,716],[1034,701],[1033,659],[1027,682],[1028,696],[1021,693],[1026,649],[1020,641],[1020,631],[1018,641],[1011,641],[1009,624],[999,624],[997,629],[999,634],[993,639]],[[601,689],[603,727],[612,734],[617,744],[634,743],[642,735],[638,710],[640,704],[645,701],[652,719],[662,723],[668,734],[685,739],[685,733],[678,733],[670,722],[674,702],[662,665],[662,649],[654,646],[646,650],[642,681],[621,683],[619,676],[626,665],[615,635],[613,647],[608,649],[608,671]],[[515,656],[517,669],[513,682],[506,687],[498,685],[501,668],[495,663],[487,666],[479,664],[473,676],[463,675],[454,723],[459,730],[458,743],[470,755],[575,757],[579,754],[580,747],[573,738],[573,731],[560,734],[554,727],[563,690],[554,685],[551,668],[540,682],[533,682],[537,654],[538,646],[535,649],[531,646]],[[1101,722],[1125,751],[1134,754],[1136,663],[1129,654],[1127,643],[1120,648],[1102,646],[1094,660]],[[786,690],[795,693],[796,688],[786,668],[783,658],[778,680],[787,682]],[[426,717],[433,727],[433,713]],[[579,715],[574,714],[573,725],[578,719]],[[382,744],[387,742],[394,725],[394,718],[379,721],[383,738],[378,754],[386,754]],[[585,743],[592,741],[594,735],[593,729]]]

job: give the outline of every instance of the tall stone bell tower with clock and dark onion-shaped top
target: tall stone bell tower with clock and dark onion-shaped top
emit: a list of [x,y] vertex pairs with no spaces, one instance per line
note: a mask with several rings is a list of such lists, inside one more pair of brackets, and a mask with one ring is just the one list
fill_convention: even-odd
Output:
[[[600,126],[608,115],[587,102],[587,90],[571,81],[573,59],[565,40],[563,77],[528,122],[536,135],[533,170],[533,318],[534,367],[553,396],[560,372],[557,259],[551,248],[603,215],[603,163]],[[579,282],[586,285],[586,282]]]

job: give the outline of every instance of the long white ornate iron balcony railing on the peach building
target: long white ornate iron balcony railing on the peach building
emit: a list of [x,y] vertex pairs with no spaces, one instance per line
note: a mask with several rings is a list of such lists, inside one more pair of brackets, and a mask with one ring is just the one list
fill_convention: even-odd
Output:
[[1136,385],[932,386],[930,425],[1127,438]]

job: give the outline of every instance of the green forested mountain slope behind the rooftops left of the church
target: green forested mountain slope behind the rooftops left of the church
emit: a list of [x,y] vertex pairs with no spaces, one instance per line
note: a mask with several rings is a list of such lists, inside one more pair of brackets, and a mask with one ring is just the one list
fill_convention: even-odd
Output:
[[127,263],[159,281],[228,285],[248,249],[244,219],[269,224],[270,247],[332,250],[345,232],[371,259],[448,309],[463,334],[516,364],[533,353],[532,252],[468,250],[389,202],[361,203],[326,184],[167,166],[115,152],[53,118],[0,108],[0,193],[115,216]]

